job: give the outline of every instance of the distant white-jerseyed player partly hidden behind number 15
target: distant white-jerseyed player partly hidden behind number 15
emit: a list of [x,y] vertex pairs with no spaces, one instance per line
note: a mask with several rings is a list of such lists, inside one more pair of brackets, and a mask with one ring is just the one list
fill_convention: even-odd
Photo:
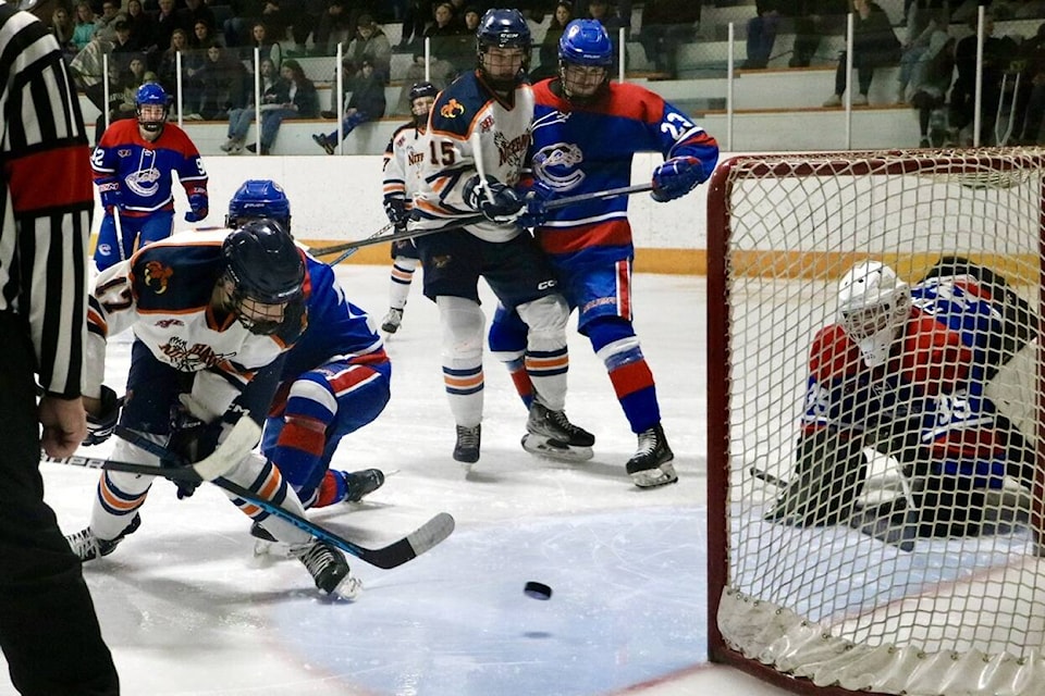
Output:
[[[439,90],[432,83],[415,83],[410,87],[410,113],[414,121],[396,128],[384,148],[384,212],[396,232],[406,229],[414,210],[414,194],[420,189],[421,163],[428,146],[428,114]],[[394,334],[403,322],[403,310],[410,294],[414,271],[420,263],[417,246],[410,239],[392,243],[392,277],[389,285],[389,313],[381,331]]]

